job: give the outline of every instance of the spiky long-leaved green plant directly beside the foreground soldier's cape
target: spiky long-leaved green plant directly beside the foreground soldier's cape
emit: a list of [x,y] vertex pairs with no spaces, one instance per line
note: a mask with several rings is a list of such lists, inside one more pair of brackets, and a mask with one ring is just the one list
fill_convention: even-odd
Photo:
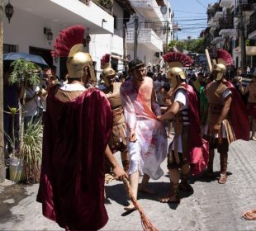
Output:
[[26,177],[30,183],[39,181],[42,154],[43,125],[40,120],[30,122],[24,133],[23,147],[18,153],[26,166]]

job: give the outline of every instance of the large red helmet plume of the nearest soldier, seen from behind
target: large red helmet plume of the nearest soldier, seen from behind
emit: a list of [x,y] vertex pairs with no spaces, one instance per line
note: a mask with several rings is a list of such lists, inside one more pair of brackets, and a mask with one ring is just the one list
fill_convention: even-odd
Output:
[[51,51],[53,57],[68,57],[74,45],[83,45],[84,26],[76,25],[59,32]]

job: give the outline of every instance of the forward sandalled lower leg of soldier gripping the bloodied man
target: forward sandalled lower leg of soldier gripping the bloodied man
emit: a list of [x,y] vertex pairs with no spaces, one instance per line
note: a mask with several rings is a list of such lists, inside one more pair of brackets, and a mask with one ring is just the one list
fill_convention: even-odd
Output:
[[173,168],[169,170],[169,178],[170,178],[170,191],[168,196],[160,198],[159,201],[162,203],[179,203],[180,199],[178,197],[178,181],[179,181],[179,171],[178,168]]

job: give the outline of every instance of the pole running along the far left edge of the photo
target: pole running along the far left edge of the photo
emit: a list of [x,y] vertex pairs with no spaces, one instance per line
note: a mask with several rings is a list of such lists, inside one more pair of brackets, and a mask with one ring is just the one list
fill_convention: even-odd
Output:
[[2,73],[2,26],[3,26],[3,0],[0,0],[0,183],[5,181],[4,165],[4,132],[3,132],[3,73]]

